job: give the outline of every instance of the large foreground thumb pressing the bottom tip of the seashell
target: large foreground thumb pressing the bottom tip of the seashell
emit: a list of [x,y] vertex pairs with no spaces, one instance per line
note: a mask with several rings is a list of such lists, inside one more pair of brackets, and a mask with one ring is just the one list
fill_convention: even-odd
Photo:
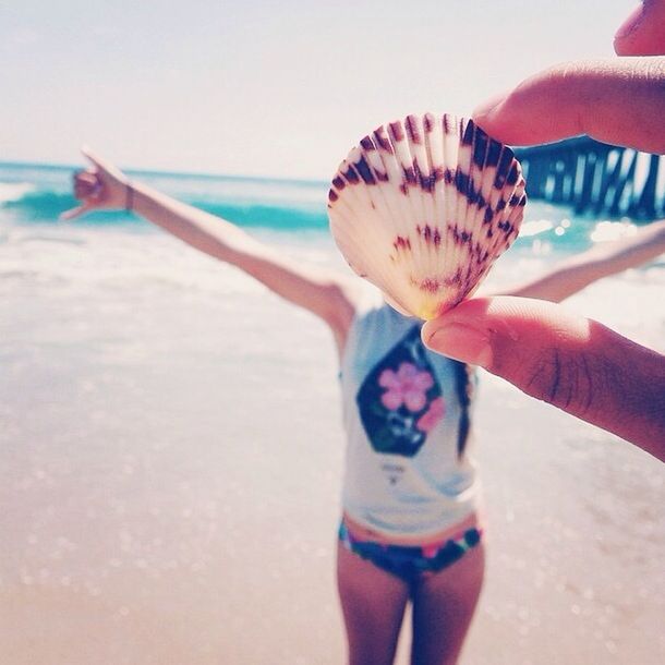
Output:
[[665,457],[665,356],[560,305],[476,299],[423,327],[434,350]]

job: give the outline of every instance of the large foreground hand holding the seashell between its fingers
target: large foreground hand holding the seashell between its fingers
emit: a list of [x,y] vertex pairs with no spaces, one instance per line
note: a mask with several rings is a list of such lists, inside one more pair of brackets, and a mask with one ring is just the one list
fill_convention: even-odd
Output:
[[[665,0],[644,0],[615,37],[619,56],[665,53]],[[484,104],[473,119],[505,143],[588,133],[665,153],[665,58],[554,66]],[[433,350],[518,388],[665,461],[665,356],[559,305],[477,299],[423,327]]]

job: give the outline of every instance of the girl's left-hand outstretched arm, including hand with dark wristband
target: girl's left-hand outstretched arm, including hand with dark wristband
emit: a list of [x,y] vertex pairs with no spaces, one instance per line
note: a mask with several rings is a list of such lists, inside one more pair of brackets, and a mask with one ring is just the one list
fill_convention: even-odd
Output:
[[63,219],[95,209],[132,209],[193,247],[237,266],[286,300],[310,310],[330,326],[338,349],[343,349],[359,293],[352,277],[299,264],[219,217],[130,181],[89,150],[84,149],[83,154],[93,168],[75,176],[74,194],[81,205],[64,213]]

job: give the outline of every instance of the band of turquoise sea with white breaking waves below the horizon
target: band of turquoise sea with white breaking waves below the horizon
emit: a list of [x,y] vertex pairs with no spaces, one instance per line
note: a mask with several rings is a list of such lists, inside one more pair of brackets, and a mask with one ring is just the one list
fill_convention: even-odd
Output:
[[[1,164],[0,229],[55,225],[58,215],[76,205],[71,193],[75,167]],[[240,178],[192,173],[129,171],[147,184],[176,198],[246,228],[280,234],[302,231],[327,233],[327,182]],[[598,220],[576,217],[567,208],[529,202],[527,223],[517,241],[524,252],[576,253],[589,247]],[[627,223],[605,222],[605,235],[620,234]],[[76,225],[112,226],[128,232],[149,225],[124,211],[96,213]],[[613,230],[614,229],[614,230]],[[534,240],[537,242],[534,245]]]

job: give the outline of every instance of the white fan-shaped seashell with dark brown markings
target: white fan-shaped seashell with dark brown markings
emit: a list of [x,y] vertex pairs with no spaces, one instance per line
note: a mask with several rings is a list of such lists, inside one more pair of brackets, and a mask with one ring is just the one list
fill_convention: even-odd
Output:
[[512,150],[472,120],[408,116],[361,140],[328,193],[351,268],[403,314],[469,298],[517,238],[527,196]]

